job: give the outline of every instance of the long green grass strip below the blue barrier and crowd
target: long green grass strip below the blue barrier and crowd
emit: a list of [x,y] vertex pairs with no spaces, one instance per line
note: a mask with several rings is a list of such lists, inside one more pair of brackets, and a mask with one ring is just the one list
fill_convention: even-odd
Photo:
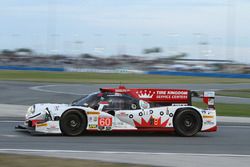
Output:
[[0,71],[0,80],[54,83],[140,83],[140,84],[205,84],[249,83],[250,79],[229,79],[142,74],[104,74],[76,72]]

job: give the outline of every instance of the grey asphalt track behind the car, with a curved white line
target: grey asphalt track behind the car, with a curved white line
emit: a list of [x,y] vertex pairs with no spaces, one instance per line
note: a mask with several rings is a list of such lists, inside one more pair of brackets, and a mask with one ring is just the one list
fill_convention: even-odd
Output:
[[[0,104],[32,105],[34,103],[70,103],[115,84],[51,84],[0,81]],[[126,84],[126,87],[182,88],[191,90],[250,89],[250,84]],[[250,104],[250,98],[216,97],[216,102]]]

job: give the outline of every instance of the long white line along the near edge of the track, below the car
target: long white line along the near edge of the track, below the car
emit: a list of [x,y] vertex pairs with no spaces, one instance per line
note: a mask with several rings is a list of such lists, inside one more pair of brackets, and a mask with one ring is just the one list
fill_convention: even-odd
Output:
[[247,157],[244,154],[198,154],[198,153],[164,153],[164,152],[122,152],[122,151],[78,151],[78,150],[36,150],[36,149],[0,149],[0,152],[45,152],[45,153],[96,153],[96,154],[136,154],[136,155],[184,155],[209,157]]

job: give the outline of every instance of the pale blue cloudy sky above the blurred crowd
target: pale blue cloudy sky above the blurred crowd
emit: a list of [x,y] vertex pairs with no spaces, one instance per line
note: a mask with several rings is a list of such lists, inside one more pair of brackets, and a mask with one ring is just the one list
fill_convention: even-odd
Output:
[[[249,0],[0,0],[0,50],[250,63]],[[143,49],[161,47],[159,54]]]

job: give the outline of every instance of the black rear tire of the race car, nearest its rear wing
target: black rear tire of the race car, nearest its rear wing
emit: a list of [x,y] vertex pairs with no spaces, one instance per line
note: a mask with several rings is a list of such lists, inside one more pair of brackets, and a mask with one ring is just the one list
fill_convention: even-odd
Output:
[[183,109],[174,117],[174,128],[180,136],[194,136],[201,130],[202,119],[193,109]]

